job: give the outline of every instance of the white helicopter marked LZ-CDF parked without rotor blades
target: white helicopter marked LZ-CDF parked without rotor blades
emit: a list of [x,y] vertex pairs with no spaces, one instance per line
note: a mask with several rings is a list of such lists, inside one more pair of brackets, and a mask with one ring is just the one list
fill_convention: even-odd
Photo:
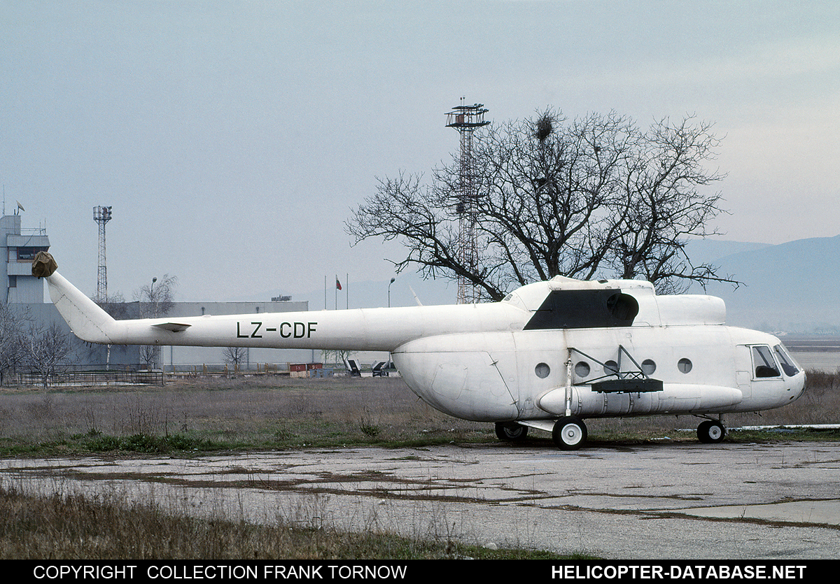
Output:
[[115,321],[55,269],[49,253],[35,258],[84,341],[387,351],[420,399],[494,422],[505,441],[537,428],[575,450],[587,418],[695,415],[700,441],[715,443],[723,414],[778,408],[805,387],[778,338],[725,325],[723,300],[657,296],[637,280],[558,276],[487,304]]

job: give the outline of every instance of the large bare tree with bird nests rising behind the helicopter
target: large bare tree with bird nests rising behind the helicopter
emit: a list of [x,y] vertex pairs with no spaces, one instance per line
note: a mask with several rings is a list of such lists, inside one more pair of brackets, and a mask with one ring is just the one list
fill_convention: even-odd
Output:
[[349,234],[401,241],[408,253],[393,261],[397,272],[411,265],[424,277],[465,278],[489,300],[555,275],[646,278],[660,291],[732,281],[685,253],[722,212],[719,194],[699,190],[723,178],[704,168],[718,145],[709,124],[665,119],[642,131],[615,112],[569,122],[547,110],[489,128],[473,146],[475,265],[459,254],[457,157],[428,185],[419,175],[381,180]]

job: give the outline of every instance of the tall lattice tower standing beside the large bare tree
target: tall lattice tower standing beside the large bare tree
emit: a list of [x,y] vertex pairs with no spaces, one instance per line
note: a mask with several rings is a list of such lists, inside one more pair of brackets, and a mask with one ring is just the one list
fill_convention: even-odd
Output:
[[[486,126],[485,109],[483,103],[471,106],[461,105],[452,108],[446,114],[446,127],[455,128],[461,135],[461,152],[459,158],[458,193],[455,198],[455,211],[458,213],[458,257],[461,265],[471,274],[475,274],[478,265],[478,239],[475,225],[478,222],[478,212],[475,200],[479,197],[475,185],[475,162],[472,155],[472,137],[475,128]],[[471,304],[478,301],[478,289],[465,276],[458,277],[458,304]]]

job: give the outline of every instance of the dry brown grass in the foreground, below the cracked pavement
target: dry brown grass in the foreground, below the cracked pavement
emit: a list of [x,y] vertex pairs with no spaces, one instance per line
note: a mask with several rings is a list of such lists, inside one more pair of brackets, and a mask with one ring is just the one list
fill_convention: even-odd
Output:
[[454,538],[412,540],[381,532],[301,528],[285,519],[250,524],[199,519],[117,496],[34,496],[0,484],[0,559],[484,559],[566,556],[486,550]]

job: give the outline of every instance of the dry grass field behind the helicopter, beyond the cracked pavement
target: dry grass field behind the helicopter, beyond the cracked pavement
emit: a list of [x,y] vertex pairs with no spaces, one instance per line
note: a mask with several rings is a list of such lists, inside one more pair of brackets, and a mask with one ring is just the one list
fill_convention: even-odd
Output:
[[[840,373],[808,373],[780,409],[727,415],[738,425],[840,422]],[[591,441],[676,437],[693,416],[587,420]],[[685,433],[685,440],[694,440]],[[91,451],[213,451],[303,446],[420,446],[496,441],[491,424],[428,407],[400,378],[192,379],[165,387],[3,388],[0,456]],[[533,441],[551,446],[548,435]]]

